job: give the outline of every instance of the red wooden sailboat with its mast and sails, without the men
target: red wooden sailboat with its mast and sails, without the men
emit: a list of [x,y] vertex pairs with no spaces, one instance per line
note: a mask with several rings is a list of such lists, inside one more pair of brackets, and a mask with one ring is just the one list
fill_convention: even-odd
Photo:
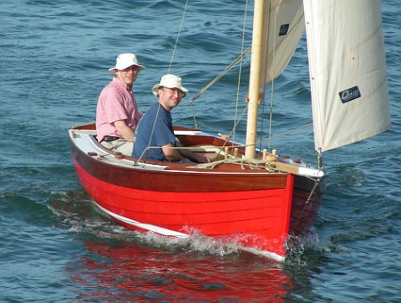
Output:
[[[316,168],[257,148],[266,84],[291,61],[306,29]],[[175,127],[184,148],[210,163],[122,156],[96,140],[94,123],[71,127],[78,178],[94,205],[127,228],[233,242],[283,260],[292,236],[307,232],[323,198],[324,151],[390,127],[381,2],[255,0],[245,143]]]

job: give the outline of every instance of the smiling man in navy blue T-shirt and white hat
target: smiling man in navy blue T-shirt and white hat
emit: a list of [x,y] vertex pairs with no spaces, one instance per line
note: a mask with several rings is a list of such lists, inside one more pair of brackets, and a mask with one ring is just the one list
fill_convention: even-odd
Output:
[[159,96],[159,100],[146,111],[136,128],[133,156],[159,161],[209,162],[208,158],[192,151],[175,148],[179,143],[174,135],[170,111],[188,94],[181,78],[171,74],[164,75],[160,83],[153,86],[152,92]]

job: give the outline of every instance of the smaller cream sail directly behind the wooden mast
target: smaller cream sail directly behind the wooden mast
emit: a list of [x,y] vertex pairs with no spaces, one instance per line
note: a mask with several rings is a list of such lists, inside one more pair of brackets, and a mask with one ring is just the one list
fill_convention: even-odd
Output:
[[[265,83],[277,78],[299,45],[305,29],[302,0],[271,0],[266,7]],[[267,44],[267,46],[266,46]]]

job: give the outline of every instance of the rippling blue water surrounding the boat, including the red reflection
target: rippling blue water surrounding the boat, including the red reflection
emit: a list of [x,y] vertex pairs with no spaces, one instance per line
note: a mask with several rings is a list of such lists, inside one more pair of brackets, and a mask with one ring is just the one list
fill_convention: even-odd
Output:
[[[184,78],[190,96],[240,53],[239,3],[189,2],[170,71]],[[67,129],[94,120],[118,53],[138,54],[147,70],[135,82],[137,100],[143,110],[154,101],[151,86],[168,71],[184,4],[0,2],[0,301],[400,301],[396,0],[382,3],[392,128],[324,154],[329,177],[314,233],[285,263],[201,235],[187,241],[140,235],[93,209],[72,167]],[[275,135],[311,122],[305,45],[303,39],[276,81]],[[236,79],[233,70],[193,102],[202,129],[230,132]],[[188,102],[174,119],[193,126]],[[239,140],[244,129],[240,123]],[[311,133],[309,127],[280,137],[274,147],[314,163]]]

